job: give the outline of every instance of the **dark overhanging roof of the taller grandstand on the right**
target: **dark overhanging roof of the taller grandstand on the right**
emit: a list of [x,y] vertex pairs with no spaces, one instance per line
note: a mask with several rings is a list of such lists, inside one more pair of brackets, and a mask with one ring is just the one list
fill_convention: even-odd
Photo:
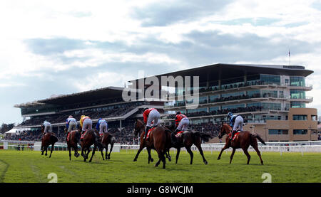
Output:
[[[156,75],[161,80],[161,76],[200,76],[200,82],[215,81],[219,79],[238,78],[247,75],[270,74],[270,75],[297,75],[307,77],[312,74],[312,70],[306,70],[301,65],[257,65],[257,64],[227,64],[218,63],[205,65],[198,68],[178,70],[172,73]],[[136,79],[138,80],[138,79]],[[129,82],[133,82],[131,80]]]

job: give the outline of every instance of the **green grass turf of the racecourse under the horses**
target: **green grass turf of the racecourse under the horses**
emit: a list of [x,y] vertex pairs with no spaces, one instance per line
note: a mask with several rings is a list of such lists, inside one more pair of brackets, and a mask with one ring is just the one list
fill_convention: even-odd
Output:
[[[4,183],[46,183],[50,173],[57,174],[58,183],[262,183],[263,173],[271,174],[273,183],[320,183],[320,153],[264,152],[261,165],[258,156],[250,152],[250,164],[246,156],[237,151],[233,163],[229,164],[230,152],[223,153],[217,160],[218,152],[205,152],[208,165],[197,151],[194,151],[193,165],[190,156],[181,151],[178,164],[166,160],[155,167],[154,161],[147,163],[147,153],[142,151],[138,161],[133,162],[134,151],[112,153],[111,160],[103,161],[97,153],[91,163],[82,157],[68,159],[67,151],[54,151],[51,158],[41,156],[40,151],[0,150],[0,182]],[[158,159],[152,152],[153,159]],[[171,152],[174,160],[175,153]]]

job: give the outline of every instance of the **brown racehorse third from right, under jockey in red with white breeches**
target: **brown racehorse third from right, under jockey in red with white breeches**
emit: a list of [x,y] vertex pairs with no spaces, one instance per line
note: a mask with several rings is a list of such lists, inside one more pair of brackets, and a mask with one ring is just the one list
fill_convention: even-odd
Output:
[[163,169],[165,169],[165,154],[166,151],[170,149],[171,144],[170,140],[168,140],[167,134],[169,131],[166,131],[161,126],[154,127],[153,130],[149,133],[148,141],[146,141],[143,139],[145,128],[145,124],[143,124],[140,119],[136,119],[134,135],[137,136],[137,134],[141,133],[141,145],[133,161],[137,161],[139,153],[144,147],[146,147],[148,151],[148,164],[150,161],[153,162],[153,158],[151,158],[151,149],[156,149],[159,160],[155,164],[155,166],[158,166],[161,161],[163,161]]

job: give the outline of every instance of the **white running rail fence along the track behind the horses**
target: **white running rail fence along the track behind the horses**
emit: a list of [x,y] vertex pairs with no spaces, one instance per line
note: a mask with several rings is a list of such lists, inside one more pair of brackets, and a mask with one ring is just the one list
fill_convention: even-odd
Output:
[[[23,141],[13,141],[13,140],[0,140],[0,143],[4,144],[6,149],[24,149],[26,150],[39,150],[39,142],[23,142]],[[33,145],[30,145],[33,144]],[[215,143],[215,144],[201,144],[203,151],[220,151],[224,147],[225,143]],[[66,143],[57,142],[55,147],[61,149],[63,147],[66,149]],[[113,151],[120,151],[120,149],[126,151],[137,151],[139,145],[127,145],[127,144],[114,144]],[[192,151],[198,151],[198,149],[193,145]],[[321,152],[321,141],[308,141],[308,142],[266,142],[266,145],[258,142],[258,149],[261,153],[265,151],[280,152]],[[171,149],[175,151],[176,149]],[[225,151],[231,151],[232,149],[226,149]],[[182,148],[181,151],[186,151]],[[242,149],[237,149],[237,151],[242,151]],[[248,151],[255,151],[253,147],[249,147]]]

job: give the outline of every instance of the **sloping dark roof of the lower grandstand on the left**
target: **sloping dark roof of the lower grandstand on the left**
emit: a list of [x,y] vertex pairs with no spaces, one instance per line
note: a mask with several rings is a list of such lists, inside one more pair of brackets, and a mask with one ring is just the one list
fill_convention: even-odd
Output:
[[68,105],[76,104],[101,99],[120,98],[123,92],[123,87],[103,87],[96,90],[89,90],[85,92],[73,93],[70,95],[58,95],[44,100],[37,100],[35,102],[28,102],[25,104],[14,105],[14,107],[31,107],[33,105]]

